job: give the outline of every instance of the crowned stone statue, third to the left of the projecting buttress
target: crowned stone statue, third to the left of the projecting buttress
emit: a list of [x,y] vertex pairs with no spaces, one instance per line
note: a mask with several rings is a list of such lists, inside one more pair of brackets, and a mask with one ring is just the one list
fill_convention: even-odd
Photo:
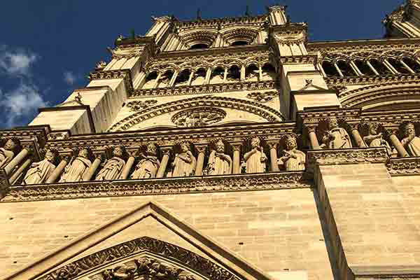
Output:
[[216,151],[210,153],[209,165],[207,165],[209,175],[232,174],[232,159],[225,155],[225,144],[219,140],[216,143]]

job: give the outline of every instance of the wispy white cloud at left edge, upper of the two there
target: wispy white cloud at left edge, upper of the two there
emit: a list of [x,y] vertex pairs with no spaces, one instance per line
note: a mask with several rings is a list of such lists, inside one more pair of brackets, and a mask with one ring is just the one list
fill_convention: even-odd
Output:
[[36,62],[38,55],[25,50],[8,50],[0,48],[0,70],[10,75],[30,75],[31,64]]

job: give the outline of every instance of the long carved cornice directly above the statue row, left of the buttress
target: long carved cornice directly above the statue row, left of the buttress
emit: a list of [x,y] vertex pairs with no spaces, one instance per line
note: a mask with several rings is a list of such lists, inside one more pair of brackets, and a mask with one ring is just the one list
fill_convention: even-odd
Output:
[[113,132],[107,134],[84,134],[69,137],[63,140],[48,141],[46,147],[56,148],[60,153],[71,153],[72,148],[80,146],[92,147],[95,150],[106,150],[109,146],[125,146],[126,149],[135,150],[148,143],[155,142],[168,146],[179,141],[213,141],[220,138],[226,141],[258,136],[260,139],[272,135],[295,133],[295,123],[260,123],[256,125],[212,126],[201,128],[179,128],[172,130]]

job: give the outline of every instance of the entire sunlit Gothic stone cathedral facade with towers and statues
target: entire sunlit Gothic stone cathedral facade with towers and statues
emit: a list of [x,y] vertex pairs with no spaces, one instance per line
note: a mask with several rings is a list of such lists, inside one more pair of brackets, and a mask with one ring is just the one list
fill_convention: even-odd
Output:
[[0,131],[0,278],[420,279],[419,0],[372,40],[152,20]]

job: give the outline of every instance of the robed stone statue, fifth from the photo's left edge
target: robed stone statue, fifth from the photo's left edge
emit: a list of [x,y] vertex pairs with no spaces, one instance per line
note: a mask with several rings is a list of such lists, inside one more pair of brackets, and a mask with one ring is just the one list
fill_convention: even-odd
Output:
[[155,144],[148,144],[146,155],[141,153],[141,160],[136,166],[136,170],[130,176],[131,179],[155,178],[158,172],[160,161],[157,157],[158,148]]

